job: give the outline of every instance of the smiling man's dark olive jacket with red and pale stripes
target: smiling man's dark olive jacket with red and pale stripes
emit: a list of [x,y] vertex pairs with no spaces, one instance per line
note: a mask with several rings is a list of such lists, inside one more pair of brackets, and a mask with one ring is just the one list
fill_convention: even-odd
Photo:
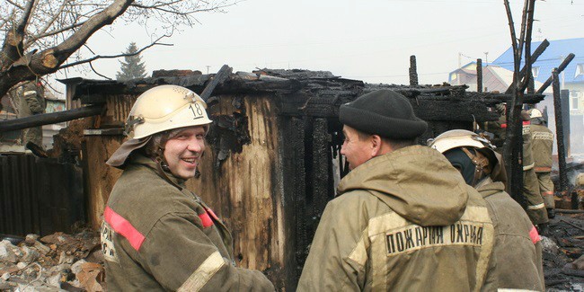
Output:
[[129,160],[102,223],[110,291],[274,290],[260,271],[235,267],[231,234],[199,197],[151,159]]

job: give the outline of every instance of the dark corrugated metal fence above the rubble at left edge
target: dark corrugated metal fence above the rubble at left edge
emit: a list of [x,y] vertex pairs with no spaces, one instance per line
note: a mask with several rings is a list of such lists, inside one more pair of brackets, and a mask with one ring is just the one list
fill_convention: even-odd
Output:
[[0,155],[0,234],[70,232],[85,221],[83,173],[34,155]]

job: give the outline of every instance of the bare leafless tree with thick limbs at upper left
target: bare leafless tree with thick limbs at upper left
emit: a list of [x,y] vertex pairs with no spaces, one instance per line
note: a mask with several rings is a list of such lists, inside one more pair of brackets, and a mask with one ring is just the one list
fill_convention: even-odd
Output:
[[[0,30],[6,32],[0,34],[3,44],[0,51],[0,95],[21,81],[34,80],[61,68],[79,65],[93,68],[98,59],[126,57],[125,54],[96,54],[86,45],[96,31],[111,25],[116,19],[143,25],[146,30],[149,21],[156,20],[156,29],[168,37],[168,32],[175,28],[198,23],[194,13],[223,12],[223,8],[239,1],[5,0],[4,3],[13,7],[0,9]],[[159,40],[154,40],[144,49],[168,45]],[[84,58],[87,51],[94,57]]]

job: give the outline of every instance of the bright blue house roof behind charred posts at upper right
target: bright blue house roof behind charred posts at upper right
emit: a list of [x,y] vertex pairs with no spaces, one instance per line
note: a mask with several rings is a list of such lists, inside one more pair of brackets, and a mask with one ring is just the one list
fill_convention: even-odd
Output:
[[[541,41],[531,43],[532,52],[537,49]],[[567,40],[550,40],[550,45],[544,50],[544,53],[537,58],[533,67],[539,67],[539,74],[535,77],[535,81],[545,82],[549,76],[552,75],[552,69],[562,64],[563,58],[566,58],[570,53],[576,57],[563,70],[565,83],[582,83],[584,82],[584,75],[576,75],[576,67],[579,64],[584,64],[584,38],[567,39]],[[525,58],[525,55],[522,56]],[[521,66],[524,64],[521,61]],[[503,54],[496,58],[492,64],[504,67],[513,71],[513,49],[509,47]]]

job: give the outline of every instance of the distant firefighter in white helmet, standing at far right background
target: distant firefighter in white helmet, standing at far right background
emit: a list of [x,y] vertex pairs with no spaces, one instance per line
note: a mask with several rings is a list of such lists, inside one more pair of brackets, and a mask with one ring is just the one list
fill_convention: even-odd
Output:
[[539,191],[547,209],[547,216],[553,218],[555,201],[553,200],[553,181],[550,175],[552,172],[553,132],[545,127],[545,119],[541,111],[531,109],[529,117],[535,163],[534,171],[539,182]]

